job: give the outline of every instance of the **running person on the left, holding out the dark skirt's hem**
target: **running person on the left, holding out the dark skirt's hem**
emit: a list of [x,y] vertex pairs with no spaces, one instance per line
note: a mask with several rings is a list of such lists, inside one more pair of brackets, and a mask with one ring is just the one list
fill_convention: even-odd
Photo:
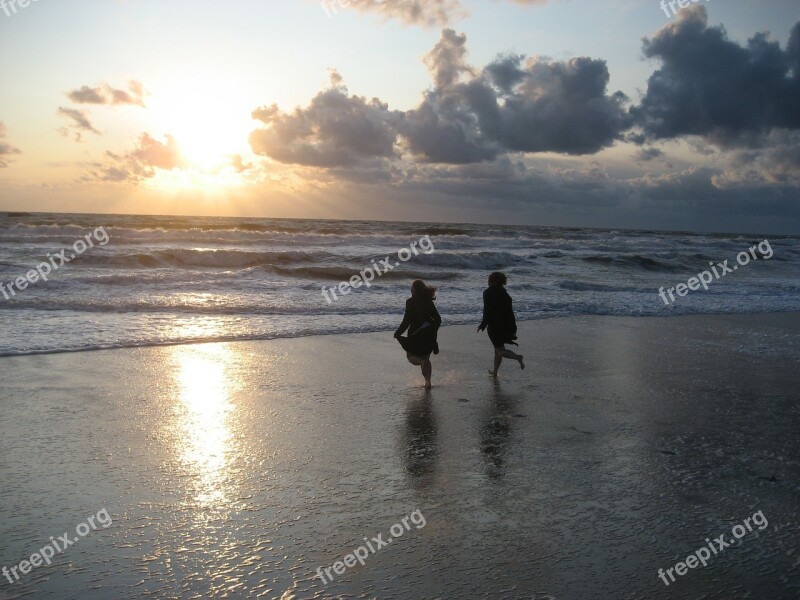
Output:
[[[436,288],[425,285],[417,279],[411,284],[411,298],[406,300],[406,314],[394,337],[406,351],[408,362],[422,368],[425,378],[425,389],[431,389],[431,352],[438,354],[439,345],[436,336],[442,317],[436,310],[433,301],[436,299]],[[403,333],[408,329],[408,337]]]

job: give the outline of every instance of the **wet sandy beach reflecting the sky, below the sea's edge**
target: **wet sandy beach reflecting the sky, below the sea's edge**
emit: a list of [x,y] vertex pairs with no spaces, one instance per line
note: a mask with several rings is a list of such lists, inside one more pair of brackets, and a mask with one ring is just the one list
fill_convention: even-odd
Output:
[[800,315],[520,340],[446,327],[430,393],[391,333],[0,359],[0,567],[113,518],[0,598],[800,596]]

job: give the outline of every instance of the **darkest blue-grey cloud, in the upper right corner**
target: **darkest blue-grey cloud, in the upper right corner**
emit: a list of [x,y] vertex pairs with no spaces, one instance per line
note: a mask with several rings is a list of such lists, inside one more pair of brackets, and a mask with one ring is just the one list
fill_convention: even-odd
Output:
[[709,27],[705,7],[681,11],[676,22],[644,40],[661,61],[641,105],[637,142],[702,136],[718,146],[758,144],[772,129],[800,129],[800,23],[786,50],[766,34],[746,47]]

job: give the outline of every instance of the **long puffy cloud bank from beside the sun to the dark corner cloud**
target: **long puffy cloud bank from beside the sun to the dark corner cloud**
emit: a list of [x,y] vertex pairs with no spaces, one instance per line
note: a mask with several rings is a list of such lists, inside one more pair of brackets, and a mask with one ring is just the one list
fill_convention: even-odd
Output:
[[407,112],[348,95],[334,72],[307,108],[253,111],[266,126],[251,134],[253,152],[322,168],[400,158],[469,164],[512,153],[593,154],[629,126],[625,95],[606,93],[604,61],[513,55],[478,70],[466,53],[466,36],[443,30],[424,58],[434,86]]

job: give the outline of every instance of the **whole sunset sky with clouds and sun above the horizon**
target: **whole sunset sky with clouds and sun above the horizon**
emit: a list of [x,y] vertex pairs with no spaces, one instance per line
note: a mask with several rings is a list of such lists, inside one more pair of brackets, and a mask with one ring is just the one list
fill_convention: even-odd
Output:
[[0,210],[800,233],[800,2],[0,0]]

